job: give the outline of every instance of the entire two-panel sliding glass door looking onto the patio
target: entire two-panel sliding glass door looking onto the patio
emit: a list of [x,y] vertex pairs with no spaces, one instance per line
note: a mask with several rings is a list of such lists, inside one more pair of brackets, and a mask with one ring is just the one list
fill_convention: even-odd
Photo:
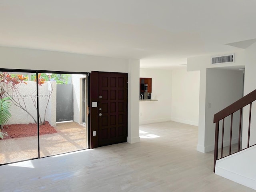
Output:
[[86,77],[0,72],[0,164],[88,148]]

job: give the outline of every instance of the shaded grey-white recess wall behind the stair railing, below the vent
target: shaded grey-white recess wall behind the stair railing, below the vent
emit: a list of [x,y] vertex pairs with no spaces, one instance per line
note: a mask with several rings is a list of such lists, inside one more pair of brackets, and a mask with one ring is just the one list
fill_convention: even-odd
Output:
[[[208,68],[206,70],[205,152],[214,150],[213,116],[243,96],[243,71]],[[220,123],[221,124],[221,123]],[[220,126],[222,127],[222,126]],[[220,136],[221,131],[220,128]],[[239,113],[233,116],[232,144],[238,142]],[[230,116],[225,118],[224,146],[229,145]],[[220,140],[219,140],[220,142]],[[219,144],[220,146],[220,144]]]

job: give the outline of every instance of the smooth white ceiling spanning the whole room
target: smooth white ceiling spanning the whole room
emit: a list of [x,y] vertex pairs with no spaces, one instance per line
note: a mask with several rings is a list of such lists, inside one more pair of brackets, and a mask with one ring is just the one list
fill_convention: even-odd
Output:
[[255,42],[255,10],[255,0],[1,0],[0,45],[169,69]]

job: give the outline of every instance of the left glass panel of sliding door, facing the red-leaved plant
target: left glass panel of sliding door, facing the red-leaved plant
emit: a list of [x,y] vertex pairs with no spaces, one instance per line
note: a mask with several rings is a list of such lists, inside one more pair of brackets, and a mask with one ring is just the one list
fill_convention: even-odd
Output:
[[0,164],[38,158],[36,82],[0,72]]

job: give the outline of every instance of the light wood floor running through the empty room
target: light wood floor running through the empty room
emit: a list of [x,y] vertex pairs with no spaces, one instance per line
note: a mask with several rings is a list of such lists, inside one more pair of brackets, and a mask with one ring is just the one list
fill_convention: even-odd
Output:
[[213,154],[196,151],[196,126],[162,122],[140,130],[139,143],[0,166],[0,191],[254,191],[213,173]]

